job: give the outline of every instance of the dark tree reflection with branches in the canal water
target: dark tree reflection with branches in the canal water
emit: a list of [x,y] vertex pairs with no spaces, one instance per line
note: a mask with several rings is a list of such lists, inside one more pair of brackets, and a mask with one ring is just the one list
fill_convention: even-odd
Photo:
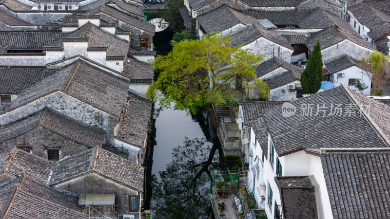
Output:
[[202,219],[210,216],[207,178],[218,168],[217,146],[204,146],[202,139],[185,137],[174,148],[172,162],[153,175],[153,217],[156,219]]

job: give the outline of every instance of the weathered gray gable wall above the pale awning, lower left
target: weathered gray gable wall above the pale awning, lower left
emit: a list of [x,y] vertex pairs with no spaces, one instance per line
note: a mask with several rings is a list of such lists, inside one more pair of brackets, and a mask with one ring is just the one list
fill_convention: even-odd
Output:
[[113,181],[103,178],[95,173],[78,177],[68,182],[56,185],[55,187],[78,195],[81,193],[116,194],[115,201],[117,204],[117,213],[119,215],[129,213],[127,197],[129,195],[138,195],[137,191],[118,183],[114,183]]

